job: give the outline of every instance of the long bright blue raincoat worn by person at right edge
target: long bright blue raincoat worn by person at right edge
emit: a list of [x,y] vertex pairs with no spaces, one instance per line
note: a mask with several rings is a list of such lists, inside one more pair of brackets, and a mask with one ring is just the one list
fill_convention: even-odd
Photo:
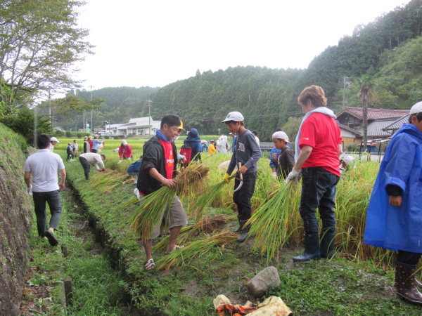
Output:
[[[364,243],[390,250],[422,253],[422,133],[404,124],[394,136],[373,186],[366,215]],[[402,204],[392,206],[387,185],[403,190]]]

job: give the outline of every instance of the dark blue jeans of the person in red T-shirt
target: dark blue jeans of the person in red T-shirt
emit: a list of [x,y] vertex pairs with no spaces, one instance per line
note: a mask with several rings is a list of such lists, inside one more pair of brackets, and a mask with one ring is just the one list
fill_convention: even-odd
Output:
[[299,213],[307,236],[318,234],[316,209],[322,220],[321,233],[335,233],[335,186],[340,177],[322,167],[302,168]]

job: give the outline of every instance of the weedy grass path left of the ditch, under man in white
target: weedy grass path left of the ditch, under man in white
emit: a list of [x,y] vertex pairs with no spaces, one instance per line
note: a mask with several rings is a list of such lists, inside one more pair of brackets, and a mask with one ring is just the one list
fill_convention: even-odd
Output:
[[[95,242],[88,219],[68,187],[62,192],[62,199],[56,236],[60,245],[68,249],[68,258],[42,239],[30,240],[32,261],[25,277],[22,315],[63,315],[63,294],[58,286],[63,277],[72,278],[73,289],[73,305],[66,308],[66,315],[129,315],[120,272],[113,270],[107,256],[103,256],[101,243]],[[32,236],[36,235],[33,216]]]

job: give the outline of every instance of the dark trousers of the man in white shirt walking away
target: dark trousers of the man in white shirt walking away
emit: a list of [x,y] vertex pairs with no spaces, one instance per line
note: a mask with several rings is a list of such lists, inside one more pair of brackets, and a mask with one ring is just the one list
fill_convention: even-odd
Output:
[[48,229],[46,202],[50,206],[50,227],[57,230],[62,209],[60,190],[50,192],[32,192],[32,198],[34,199],[35,215],[37,216],[38,235],[41,237]]

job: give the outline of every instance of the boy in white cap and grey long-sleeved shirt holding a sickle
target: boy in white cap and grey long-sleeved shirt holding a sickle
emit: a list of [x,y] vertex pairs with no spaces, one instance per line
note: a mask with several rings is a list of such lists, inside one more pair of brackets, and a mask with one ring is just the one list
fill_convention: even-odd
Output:
[[249,235],[250,225],[246,225],[246,223],[252,215],[250,199],[255,190],[257,180],[257,162],[262,156],[261,148],[256,142],[255,136],[253,136],[251,131],[245,129],[243,120],[243,115],[240,112],[230,112],[227,114],[226,119],[222,121],[229,127],[231,133],[238,133],[229,168],[227,168],[224,176],[224,181],[229,183],[231,173],[238,166],[238,163],[241,163],[241,169],[237,171],[236,179],[234,180],[234,188],[236,190],[241,182],[239,174],[243,176],[243,185],[240,190],[233,194],[233,202],[238,207],[239,220],[239,228],[234,232],[241,232],[237,239],[238,242],[244,242]]

